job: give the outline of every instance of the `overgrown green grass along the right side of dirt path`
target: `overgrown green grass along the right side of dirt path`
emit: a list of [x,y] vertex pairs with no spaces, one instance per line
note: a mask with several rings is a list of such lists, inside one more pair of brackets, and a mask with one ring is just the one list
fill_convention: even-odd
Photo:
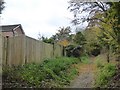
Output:
[[109,80],[115,75],[116,64],[106,63],[104,60],[101,60],[101,58],[97,58],[95,63],[98,67],[95,87],[107,87]]

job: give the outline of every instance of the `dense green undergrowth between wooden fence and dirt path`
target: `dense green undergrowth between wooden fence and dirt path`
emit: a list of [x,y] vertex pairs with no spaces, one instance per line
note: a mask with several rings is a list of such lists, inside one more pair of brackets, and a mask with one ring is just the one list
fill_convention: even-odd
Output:
[[[3,87],[62,87],[77,74],[77,58],[47,59],[42,64],[3,68]],[[74,68],[73,68],[74,67]]]

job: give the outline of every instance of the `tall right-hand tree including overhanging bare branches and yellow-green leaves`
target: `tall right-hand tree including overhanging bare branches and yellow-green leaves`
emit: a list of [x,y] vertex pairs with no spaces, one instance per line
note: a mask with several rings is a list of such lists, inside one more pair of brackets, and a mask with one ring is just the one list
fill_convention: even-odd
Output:
[[[120,57],[120,2],[81,3],[79,0],[71,0],[70,4],[70,7],[72,7],[71,11],[75,12],[75,22],[73,21],[73,23],[80,24],[79,20],[81,20],[83,22],[88,21],[88,27],[98,26],[101,29],[102,35],[99,40],[103,42],[108,49],[108,57],[110,46],[112,48],[116,47],[116,53],[118,53]],[[80,9],[80,7],[84,8]],[[80,12],[84,11],[88,12],[88,16],[80,19]]]

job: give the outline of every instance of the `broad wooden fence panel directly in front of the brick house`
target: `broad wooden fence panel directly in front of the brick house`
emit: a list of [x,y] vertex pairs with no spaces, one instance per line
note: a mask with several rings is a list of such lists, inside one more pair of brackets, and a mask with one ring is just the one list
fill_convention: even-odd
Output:
[[25,63],[25,36],[10,37],[7,40],[6,60],[8,65]]

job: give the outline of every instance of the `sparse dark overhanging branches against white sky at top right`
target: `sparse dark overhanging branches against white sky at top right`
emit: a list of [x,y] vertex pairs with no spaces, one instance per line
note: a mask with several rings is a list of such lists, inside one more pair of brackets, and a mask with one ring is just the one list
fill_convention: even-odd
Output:
[[[109,3],[103,2],[81,2],[80,0],[70,0],[70,6],[68,7],[71,12],[74,13],[74,20],[72,23],[74,25],[81,24],[85,21],[88,21],[89,24],[92,24],[94,21],[101,21],[101,18],[93,17],[96,13],[105,13],[109,7]],[[87,14],[86,14],[87,12]],[[85,15],[82,16],[81,15]]]

